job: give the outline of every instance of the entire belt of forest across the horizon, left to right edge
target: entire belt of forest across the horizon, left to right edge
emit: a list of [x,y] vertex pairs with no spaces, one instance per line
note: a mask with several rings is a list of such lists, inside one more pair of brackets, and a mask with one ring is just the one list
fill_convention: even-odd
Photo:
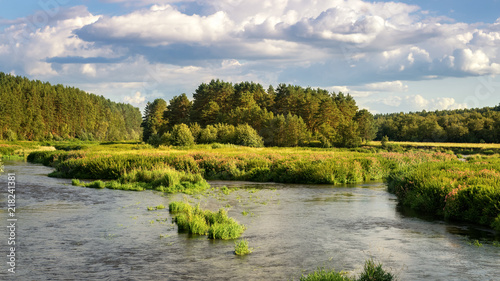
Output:
[[212,80],[168,102],[129,104],[0,72],[2,140],[142,140],[152,145],[357,147],[370,140],[499,143],[500,105],[377,114],[349,94]]

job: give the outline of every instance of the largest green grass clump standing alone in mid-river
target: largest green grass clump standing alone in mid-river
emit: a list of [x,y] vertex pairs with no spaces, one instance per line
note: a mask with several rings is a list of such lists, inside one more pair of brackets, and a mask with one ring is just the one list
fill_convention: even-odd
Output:
[[224,209],[218,212],[202,210],[185,202],[174,201],[169,211],[176,215],[174,221],[178,230],[197,235],[208,235],[210,239],[236,239],[243,234],[244,226],[227,216]]

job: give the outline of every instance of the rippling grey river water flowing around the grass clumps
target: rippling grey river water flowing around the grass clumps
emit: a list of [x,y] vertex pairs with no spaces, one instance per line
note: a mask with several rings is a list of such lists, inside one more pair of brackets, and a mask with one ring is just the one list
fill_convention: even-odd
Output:
[[[399,280],[500,280],[500,237],[487,229],[399,210],[383,183],[325,185],[211,182],[224,195],[166,195],[75,187],[51,168],[7,161],[16,174],[16,273],[7,271],[0,230],[0,280],[297,280],[318,267],[355,275],[373,258]],[[7,225],[7,176],[0,225]],[[253,253],[234,241],[178,233],[172,200],[227,207]],[[474,245],[478,240],[482,246]]]

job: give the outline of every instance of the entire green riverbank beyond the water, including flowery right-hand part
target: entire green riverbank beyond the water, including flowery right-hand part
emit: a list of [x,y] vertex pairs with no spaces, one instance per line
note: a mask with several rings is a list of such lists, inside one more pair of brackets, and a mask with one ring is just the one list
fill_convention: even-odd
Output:
[[[107,143],[76,147],[78,150],[71,150],[74,146],[58,148],[63,150],[33,152],[28,161],[54,167],[54,177],[99,180],[80,184],[84,186],[169,193],[202,191],[205,180],[353,184],[385,179],[389,192],[395,193],[404,206],[500,231],[498,155],[461,162],[451,151],[389,152],[373,147],[249,148],[212,144],[152,148],[139,143]],[[475,159],[486,159],[486,166]],[[101,179],[111,181],[104,183]]]

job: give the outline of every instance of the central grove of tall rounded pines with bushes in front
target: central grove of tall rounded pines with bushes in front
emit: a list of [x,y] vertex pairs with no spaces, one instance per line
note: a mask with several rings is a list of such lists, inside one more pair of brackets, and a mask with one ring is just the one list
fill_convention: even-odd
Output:
[[373,116],[348,94],[220,80],[201,84],[192,101],[182,94],[148,102],[142,127],[143,140],[155,145],[356,147],[376,134]]

